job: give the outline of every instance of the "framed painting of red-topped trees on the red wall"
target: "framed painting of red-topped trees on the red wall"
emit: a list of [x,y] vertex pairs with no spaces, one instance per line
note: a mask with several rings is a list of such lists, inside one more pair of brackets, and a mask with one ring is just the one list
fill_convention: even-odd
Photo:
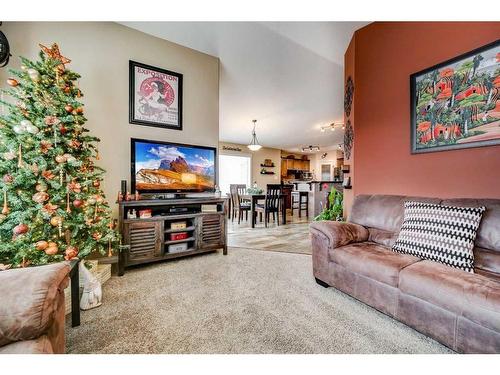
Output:
[[411,152],[500,144],[500,40],[410,76]]

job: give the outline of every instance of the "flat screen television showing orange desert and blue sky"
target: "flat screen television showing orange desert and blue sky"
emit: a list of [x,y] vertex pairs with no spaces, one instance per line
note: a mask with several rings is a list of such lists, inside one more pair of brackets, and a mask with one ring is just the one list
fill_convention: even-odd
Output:
[[132,191],[213,192],[216,149],[132,138]]

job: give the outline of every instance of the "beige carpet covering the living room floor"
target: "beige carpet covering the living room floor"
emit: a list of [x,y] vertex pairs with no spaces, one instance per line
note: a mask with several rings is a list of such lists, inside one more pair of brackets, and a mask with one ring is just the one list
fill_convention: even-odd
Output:
[[449,352],[318,286],[308,255],[236,248],[112,277],[66,332],[69,353]]

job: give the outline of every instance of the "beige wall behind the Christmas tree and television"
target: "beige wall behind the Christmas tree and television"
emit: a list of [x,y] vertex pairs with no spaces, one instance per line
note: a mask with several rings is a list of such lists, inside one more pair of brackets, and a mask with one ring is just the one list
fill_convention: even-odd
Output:
[[[127,179],[130,186],[130,138],[217,147],[217,58],[111,22],[6,22],[2,31],[13,54],[9,68],[19,68],[20,55],[36,59],[38,43],[57,42],[72,60],[68,67],[81,74],[86,127],[101,139],[98,165],[107,171],[103,187],[110,202],[116,199],[120,180]],[[183,131],[129,124],[129,60],[184,75]],[[0,69],[1,87],[7,74]]]

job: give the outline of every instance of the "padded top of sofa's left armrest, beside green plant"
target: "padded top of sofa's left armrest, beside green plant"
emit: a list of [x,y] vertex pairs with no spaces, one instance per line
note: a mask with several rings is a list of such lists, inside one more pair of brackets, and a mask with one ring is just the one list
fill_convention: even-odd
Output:
[[316,221],[311,223],[309,230],[313,236],[322,235],[326,238],[330,249],[367,241],[369,235],[368,229],[359,224],[339,221]]

